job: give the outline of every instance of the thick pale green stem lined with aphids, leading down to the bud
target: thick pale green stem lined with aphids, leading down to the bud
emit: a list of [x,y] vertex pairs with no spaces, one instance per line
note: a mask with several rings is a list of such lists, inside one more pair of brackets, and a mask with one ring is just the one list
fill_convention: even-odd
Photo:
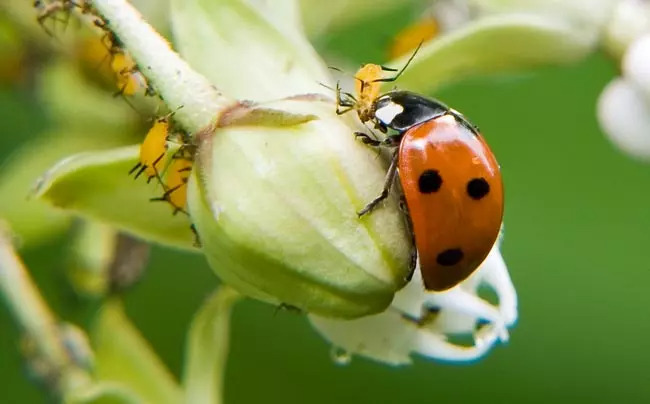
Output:
[[234,103],[174,52],[128,1],[93,0],[92,4],[156,92],[177,110],[175,119],[185,129],[195,132],[209,125],[219,111]]

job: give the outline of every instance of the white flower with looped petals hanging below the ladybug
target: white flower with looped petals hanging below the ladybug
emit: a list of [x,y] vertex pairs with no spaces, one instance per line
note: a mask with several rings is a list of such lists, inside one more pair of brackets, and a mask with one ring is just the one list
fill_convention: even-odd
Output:
[[[395,294],[381,314],[356,320],[311,315],[313,326],[333,344],[335,360],[352,355],[392,365],[411,362],[411,354],[441,361],[467,362],[484,356],[517,320],[517,295],[497,243],[481,267],[460,285],[442,292],[424,290],[419,269]],[[479,297],[481,287],[492,289],[496,305]],[[471,336],[471,345],[450,337]]]

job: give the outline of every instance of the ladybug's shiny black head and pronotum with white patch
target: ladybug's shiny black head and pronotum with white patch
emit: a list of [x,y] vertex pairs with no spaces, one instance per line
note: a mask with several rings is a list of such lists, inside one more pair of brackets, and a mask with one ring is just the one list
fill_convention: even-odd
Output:
[[386,93],[375,100],[373,107],[379,128],[400,133],[449,112],[445,104],[410,91]]

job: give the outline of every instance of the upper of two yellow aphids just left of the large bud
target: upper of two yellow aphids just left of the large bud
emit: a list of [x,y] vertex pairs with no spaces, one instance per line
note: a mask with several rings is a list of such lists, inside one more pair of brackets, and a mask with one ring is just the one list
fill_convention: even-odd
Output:
[[138,178],[142,173],[147,175],[147,182],[160,177],[160,170],[165,167],[167,160],[167,135],[169,132],[169,116],[156,119],[147,136],[140,146],[140,161],[129,174]]

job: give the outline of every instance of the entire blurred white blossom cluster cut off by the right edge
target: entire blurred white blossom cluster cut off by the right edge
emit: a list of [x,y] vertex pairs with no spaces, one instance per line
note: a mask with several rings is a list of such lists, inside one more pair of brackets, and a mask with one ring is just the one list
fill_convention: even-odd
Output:
[[621,58],[621,77],[598,100],[598,120],[608,138],[627,154],[650,160],[650,2],[621,1],[605,44]]

